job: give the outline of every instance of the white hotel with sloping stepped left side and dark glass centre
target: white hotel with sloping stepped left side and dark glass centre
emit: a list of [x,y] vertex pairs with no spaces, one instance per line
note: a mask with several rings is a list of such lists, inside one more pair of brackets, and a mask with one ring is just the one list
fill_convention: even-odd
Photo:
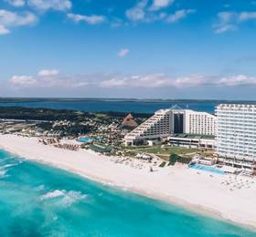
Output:
[[174,134],[215,135],[216,117],[190,109],[160,109],[125,137],[125,145],[142,145],[147,140],[167,139]]

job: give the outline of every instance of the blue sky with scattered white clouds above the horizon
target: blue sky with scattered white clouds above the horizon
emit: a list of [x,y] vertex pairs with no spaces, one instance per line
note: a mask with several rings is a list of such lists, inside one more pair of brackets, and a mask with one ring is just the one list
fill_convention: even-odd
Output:
[[256,99],[256,1],[0,0],[0,97]]

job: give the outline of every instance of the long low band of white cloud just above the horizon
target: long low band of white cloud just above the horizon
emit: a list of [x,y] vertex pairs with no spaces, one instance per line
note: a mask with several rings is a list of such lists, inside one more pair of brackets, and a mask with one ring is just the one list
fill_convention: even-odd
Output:
[[58,70],[41,70],[36,76],[14,76],[9,79],[14,88],[219,88],[256,86],[256,77],[227,77],[201,74],[170,77],[164,73],[147,75],[76,75],[61,76]]

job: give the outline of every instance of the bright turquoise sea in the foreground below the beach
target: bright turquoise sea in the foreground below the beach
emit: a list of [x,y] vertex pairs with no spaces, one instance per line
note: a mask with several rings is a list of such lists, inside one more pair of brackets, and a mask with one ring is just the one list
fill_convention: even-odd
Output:
[[0,236],[256,236],[0,149]]

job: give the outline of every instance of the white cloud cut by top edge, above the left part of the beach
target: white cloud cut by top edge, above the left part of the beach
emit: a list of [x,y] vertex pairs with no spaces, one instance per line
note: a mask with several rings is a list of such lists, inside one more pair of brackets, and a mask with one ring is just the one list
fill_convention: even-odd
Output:
[[29,0],[28,5],[40,11],[67,11],[72,7],[72,3],[69,0]]

